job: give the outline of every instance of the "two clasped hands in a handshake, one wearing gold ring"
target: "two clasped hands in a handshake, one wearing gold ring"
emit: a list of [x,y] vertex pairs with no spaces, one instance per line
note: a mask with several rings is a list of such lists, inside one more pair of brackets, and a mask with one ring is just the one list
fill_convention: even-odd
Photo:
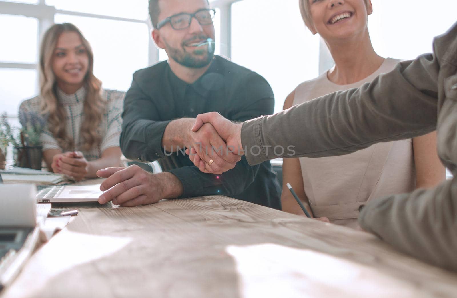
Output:
[[244,155],[241,144],[243,123],[234,123],[218,112],[197,116],[192,144],[187,145],[189,159],[204,173],[222,174],[235,167]]

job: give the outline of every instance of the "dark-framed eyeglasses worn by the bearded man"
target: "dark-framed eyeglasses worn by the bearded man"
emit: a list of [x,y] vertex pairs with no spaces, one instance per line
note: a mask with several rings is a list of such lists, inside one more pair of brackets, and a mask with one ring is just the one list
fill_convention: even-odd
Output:
[[159,30],[164,27],[166,23],[170,23],[171,27],[175,30],[186,29],[191,26],[192,18],[195,17],[200,25],[209,25],[213,23],[215,9],[200,9],[195,13],[179,13],[177,15],[169,16],[163,21],[159,21],[155,28]]

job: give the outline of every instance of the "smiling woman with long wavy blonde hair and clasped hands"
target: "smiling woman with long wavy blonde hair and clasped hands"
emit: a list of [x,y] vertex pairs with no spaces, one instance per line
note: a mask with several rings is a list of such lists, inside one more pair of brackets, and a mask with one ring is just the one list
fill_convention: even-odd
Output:
[[120,164],[124,92],[103,89],[93,65],[92,49],[80,30],[54,24],[40,47],[40,95],[19,108],[47,119],[40,136],[44,160],[53,172],[76,181]]

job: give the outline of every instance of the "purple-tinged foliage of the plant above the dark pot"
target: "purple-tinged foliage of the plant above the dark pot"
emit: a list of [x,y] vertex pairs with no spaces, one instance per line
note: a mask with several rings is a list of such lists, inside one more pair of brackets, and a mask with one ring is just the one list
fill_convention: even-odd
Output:
[[40,134],[46,124],[46,120],[36,112],[19,112],[19,122],[22,125],[21,141],[24,146],[39,146]]

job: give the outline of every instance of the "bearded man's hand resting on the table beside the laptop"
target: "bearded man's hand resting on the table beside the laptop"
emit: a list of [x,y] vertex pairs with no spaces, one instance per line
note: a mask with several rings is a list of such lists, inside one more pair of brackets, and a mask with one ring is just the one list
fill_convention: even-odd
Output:
[[181,196],[181,181],[171,173],[151,174],[138,165],[128,168],[106,168],[98,170],[97,176],[106,178],[100,190],[100,204],[112,201],[115,205],[131,207],[159,202]]

